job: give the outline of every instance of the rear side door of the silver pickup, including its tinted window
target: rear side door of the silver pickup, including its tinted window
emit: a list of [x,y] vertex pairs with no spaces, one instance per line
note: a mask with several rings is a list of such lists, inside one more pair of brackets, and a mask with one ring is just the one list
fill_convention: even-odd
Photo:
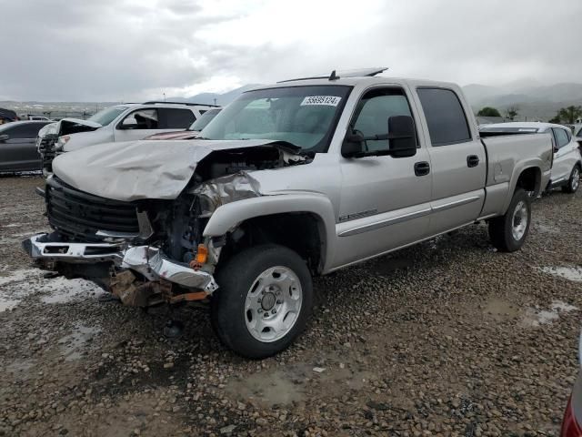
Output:
[[428,155],[433,175],[430,233],[471,223],[485,201],[487,156],[477,131],[468,124],[457,90],[416,88],[430,138]]

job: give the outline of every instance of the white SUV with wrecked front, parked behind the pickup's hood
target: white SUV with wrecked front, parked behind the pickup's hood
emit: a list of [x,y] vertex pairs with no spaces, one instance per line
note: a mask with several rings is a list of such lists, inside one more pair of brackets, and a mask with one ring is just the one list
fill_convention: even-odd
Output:
[[63,118],[41,129],[36,147],[43,171],[52,172],[56,155],[95,144],[133,141],[190,127],[213,105],[146,102],[107,107],[86,120]]

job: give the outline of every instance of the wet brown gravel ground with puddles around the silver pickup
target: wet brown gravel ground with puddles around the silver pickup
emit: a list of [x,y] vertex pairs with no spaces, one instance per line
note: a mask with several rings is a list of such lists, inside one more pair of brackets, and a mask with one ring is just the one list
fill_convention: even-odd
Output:
[[45,279],[40,178],[0,178],[0,435],[557,435],[577,375],[582,192],[534,204],[523,250],[473,226],[315,280],[288,351],[246,361],[205,309],[168,315]]

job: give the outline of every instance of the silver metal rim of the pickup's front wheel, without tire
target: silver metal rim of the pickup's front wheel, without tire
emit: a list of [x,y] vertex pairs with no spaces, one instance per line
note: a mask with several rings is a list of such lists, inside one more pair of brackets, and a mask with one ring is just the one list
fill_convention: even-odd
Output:
[[266,269],[246,293],[246,329],[259,341],[280,340],[295,326],[302,301],[301,282],[292,269]]

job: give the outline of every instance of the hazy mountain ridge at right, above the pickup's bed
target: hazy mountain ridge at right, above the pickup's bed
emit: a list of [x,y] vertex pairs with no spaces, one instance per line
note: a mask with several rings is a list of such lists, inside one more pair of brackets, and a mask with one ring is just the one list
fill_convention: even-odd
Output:
[[463,87],[467,100],[477,112],[481,107],[518,107],[518,120],[547,121],[561,107],[582,106],[582,84],[539,85],[532,79],[505,86],[471,84]]

